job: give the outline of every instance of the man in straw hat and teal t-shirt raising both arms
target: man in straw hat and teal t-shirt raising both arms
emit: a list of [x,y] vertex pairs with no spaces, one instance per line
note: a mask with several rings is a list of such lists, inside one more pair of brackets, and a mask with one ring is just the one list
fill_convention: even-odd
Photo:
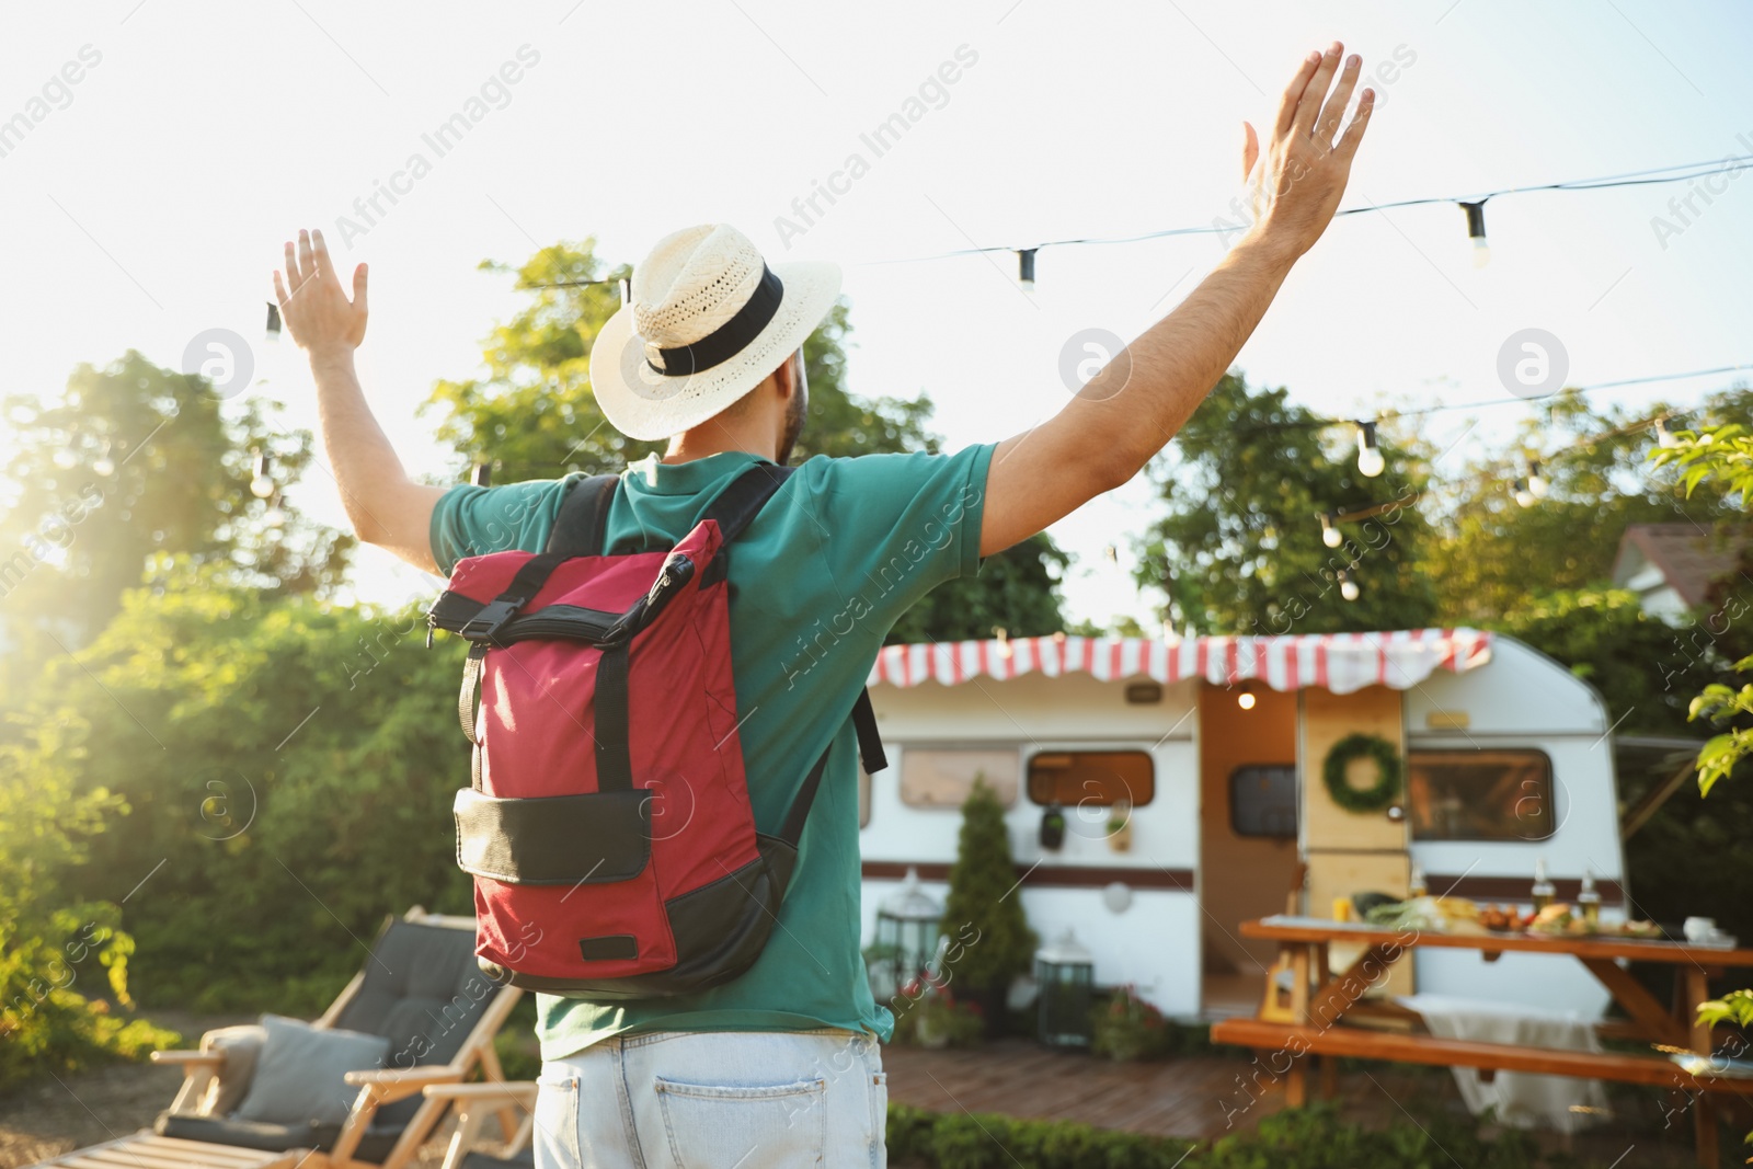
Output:
[[[680,999],[538,995],[538,1164],[884,1164],[876,1039],[894,1025],[859,957],[855,736],[847,722],[894,620],[933,585],[978,571],[1138,473],[1229,368],[1345,193],[1374,95],[1343,124],[1360,61],[1311,53],[1264,149],[1245,126],[1257,221],[1217,270],[1050,421],[954,456],[806,461],[731,557],[731,662],[761,831],[831,745],[798,869],[761,959]],[[323,442],[361,540],[428,571],[463,556],[542,550],[566,480],[428,487],[403,473],[352,368],[366,270],[349,301],[321,233],[286,245],[273,279],[309,351]],[[759,461],[785,464],[805,419],[803,340],[840,291],[833,265],[761,261],[733,228],[661,240],[631,303],[603,326],[591,384],[661,461],[621,477],[607,542],[668,547]],[[435,727],[436,731],[436,727]],[[433,841],[433,847],[440,847]]]

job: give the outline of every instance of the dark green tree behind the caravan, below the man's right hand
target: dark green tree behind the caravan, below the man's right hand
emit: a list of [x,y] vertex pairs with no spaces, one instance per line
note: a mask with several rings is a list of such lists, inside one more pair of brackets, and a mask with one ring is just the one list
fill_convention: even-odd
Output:
[[[1416,450],[1378,433],[1388,473],[1357,470],[1353,431],[1320,428],[1280,389],[1227,373],[1182,428],[1152,478],[1167,512],[1145,535],[1138,584],[1164,594],[1169,620],[1196,633],[1329,633],[1430,622],[1436,598],[1420,557]],[[1343,542],[1322,538],[1324,514]],[[1343,598],[1339,573],[1357,584]]]

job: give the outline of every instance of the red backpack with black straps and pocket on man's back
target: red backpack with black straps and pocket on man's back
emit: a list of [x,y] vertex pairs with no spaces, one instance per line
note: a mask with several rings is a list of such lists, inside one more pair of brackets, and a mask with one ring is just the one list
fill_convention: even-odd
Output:
[[[456,862],[494,981],[591,999],[692,994],[761,955],[827,766],[756,831],[731,680],[731,542],[789,468],[735,478],[673,549],[603,556],[617,478],[575,482],[547,550],[458,561],[428,613],[470,641],[475,747]],[[480,713],[475,691],[480,689]],[[869,694],[866,771],[887,766]],[[778,776],[763,776],[775,782]]]

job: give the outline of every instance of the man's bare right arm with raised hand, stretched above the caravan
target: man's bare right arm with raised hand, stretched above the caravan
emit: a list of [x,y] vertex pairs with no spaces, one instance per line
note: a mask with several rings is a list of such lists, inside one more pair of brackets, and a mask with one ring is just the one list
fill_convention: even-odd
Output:
[[[1066,407],[992,452],[980,556],[1001,552],[1127,482],[1211,393],[1266,315],[1290,266],[1332,221],[1374,93],[1339,123],[1362,67],[1334,42],[1290,79],[1264,156],[1246,126],[1255,223],[1175,312],[1145,329]],[[1327,86],[1338,75],[1332,95]],[[1325,100],[1325,103],[1324,103]]]

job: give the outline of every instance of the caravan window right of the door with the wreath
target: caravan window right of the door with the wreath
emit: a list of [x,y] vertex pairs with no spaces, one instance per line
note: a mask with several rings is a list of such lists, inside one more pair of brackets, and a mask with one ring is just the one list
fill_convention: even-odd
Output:
[[1546,840],[1558,824],[1541,750],[1408,752],[1406,803],[1413,840]]

